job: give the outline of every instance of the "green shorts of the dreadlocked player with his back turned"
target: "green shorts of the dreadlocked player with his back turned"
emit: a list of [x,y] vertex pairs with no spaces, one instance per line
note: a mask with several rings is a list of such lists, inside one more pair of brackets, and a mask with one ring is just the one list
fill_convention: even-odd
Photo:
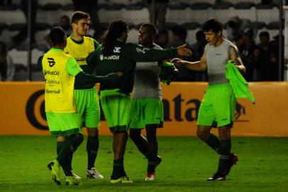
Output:
[[111,132],[127,131],[130,119],[131,97],[116,90],[100,92],[101,106]]

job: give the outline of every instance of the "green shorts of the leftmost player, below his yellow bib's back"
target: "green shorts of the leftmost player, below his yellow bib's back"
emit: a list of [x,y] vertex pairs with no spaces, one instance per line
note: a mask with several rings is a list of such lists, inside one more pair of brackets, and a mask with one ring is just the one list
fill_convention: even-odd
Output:
[[46,117],[53,137],[68,137],[72,134],[82,134],[82,122],[77,113],[46,112]]

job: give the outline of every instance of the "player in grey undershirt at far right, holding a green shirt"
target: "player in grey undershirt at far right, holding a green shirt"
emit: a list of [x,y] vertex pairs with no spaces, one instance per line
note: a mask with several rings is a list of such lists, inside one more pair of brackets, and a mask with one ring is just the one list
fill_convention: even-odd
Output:
[[[215,19],[206,21],[203,31],[208,44],[201,60],[188,62],[175,58],[173,63],[196,71],[208,71],[209,85],[201,102],[197,119],[197,136],[220,154],[218,170],[207,181],[225,180],[238,156],[231,153],[231,128],[236,110],[236,97],[226,78],[226,65],[233,60],[234,65],[245,73],[237,47],[223,38],[223,26]],[[218,127],[218,137],[211,134],[211,128]]]

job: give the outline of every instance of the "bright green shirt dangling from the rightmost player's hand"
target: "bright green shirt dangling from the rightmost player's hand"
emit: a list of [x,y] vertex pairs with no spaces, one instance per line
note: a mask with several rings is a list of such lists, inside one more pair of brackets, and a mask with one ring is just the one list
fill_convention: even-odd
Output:
[[226,78],[229,80],[236,98],[248,98],[255,104],[255,98],[248,88],[248,82],[243,78],[231,60],[228,60],[226,66]]

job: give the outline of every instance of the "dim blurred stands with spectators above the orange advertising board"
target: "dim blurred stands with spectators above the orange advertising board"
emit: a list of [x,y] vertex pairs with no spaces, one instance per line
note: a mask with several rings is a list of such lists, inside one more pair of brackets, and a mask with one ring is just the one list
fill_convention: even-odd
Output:
[[[170,48],[187,43],[199,60],[206,40],[201,25],[216,18],[224,26],[224,36],[238,46],[247,68],[248,81],[277,81],[279,77],[279,1],[280,0],[0,0],[0,78],[27,80],[28,1],[31,1],[32,80],[43,80],[37,66],[40,55],[50,49],[48,33],[62,26],[72,33],[73,11],[91,16],[88,36],[101,42],[101,36],[113,19],[129,23],[128,42],[138,42],[141,23],[155,22],[155,43]],[[154,10],[154,11],[153,11]],[[283,22],[283,21],[281,21]],[[284,48],[281,49],[284,51]],[[284,62],[281,62],[284,63]],[[281,69],[282,70],[282,69]],[[175,81],[206,81],[206,73],[179,68]]]

